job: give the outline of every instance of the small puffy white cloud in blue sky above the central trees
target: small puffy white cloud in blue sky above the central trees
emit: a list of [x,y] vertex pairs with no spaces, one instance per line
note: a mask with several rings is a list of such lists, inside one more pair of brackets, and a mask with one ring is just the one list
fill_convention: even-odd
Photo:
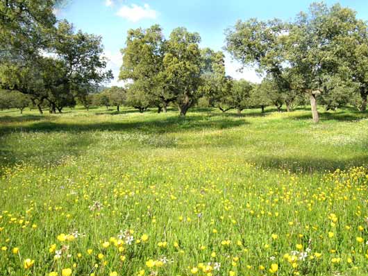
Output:
[[149,4],[144,4],[143,6],[132,4],[131,6],[122,6],[117,11],[117,15],[129,21],[137,22],[141,19],[156,19],[157,12],[151,9]]

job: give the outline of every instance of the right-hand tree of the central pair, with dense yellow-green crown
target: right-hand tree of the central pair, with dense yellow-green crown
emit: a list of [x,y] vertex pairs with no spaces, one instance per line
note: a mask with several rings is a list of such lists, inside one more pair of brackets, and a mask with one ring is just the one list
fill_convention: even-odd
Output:
[[201,51],[198,33],[190,33],[186,28],[176,28],[165,43],[165,57],[160,79],[174,95],[181,117],[201,96]]

